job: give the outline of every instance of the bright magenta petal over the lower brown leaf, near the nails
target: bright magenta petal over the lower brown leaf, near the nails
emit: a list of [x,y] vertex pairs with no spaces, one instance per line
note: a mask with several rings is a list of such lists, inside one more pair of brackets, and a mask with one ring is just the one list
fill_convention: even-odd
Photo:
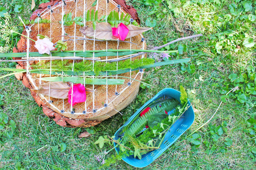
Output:
[[[68,103],[71,105],[71,96],[72,96],[72,87],[70,87],[68,91]],[[83,84],[76,84],[73,85],[73,100],[72,100],[72,106],[74,106],[77,103],[85,102],[86,100],[86,93],[85,93],[85,87]]]

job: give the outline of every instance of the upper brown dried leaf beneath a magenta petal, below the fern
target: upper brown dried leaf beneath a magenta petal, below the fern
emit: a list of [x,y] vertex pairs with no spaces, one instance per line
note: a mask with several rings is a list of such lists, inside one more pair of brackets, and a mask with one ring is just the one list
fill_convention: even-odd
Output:
[[[138,27],[130,24],[127,26],[127,28],[129,29],[129,33],[126,36],[126,38],[134,37],[145,31],[152,29],[152,28]],[[94,38],[94,29],[92,28],[92,26],[84,26],[80,28],[79,31],[81,31],[81,33],[83,33],[87,37]],[[116,37],[113,37],[111,25],[106,22],[101,22],[96,25],[95,39],[117,40]]]

